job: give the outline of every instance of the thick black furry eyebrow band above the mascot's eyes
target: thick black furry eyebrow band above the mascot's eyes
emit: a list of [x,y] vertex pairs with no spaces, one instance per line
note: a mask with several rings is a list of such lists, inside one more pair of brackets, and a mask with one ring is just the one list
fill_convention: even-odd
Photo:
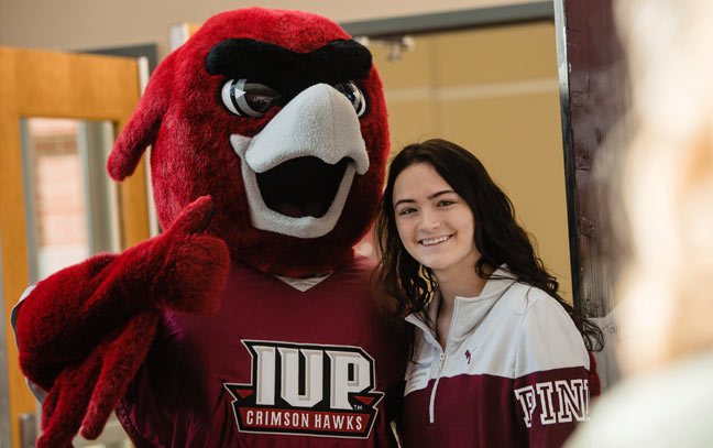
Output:
[[276,87],[286,78],[306,85],[365,79],[371,67],[369,50],[344,39],[307,53],[254,39],[228,39],[213,45],[206,58],[211,75],[255,79]]

